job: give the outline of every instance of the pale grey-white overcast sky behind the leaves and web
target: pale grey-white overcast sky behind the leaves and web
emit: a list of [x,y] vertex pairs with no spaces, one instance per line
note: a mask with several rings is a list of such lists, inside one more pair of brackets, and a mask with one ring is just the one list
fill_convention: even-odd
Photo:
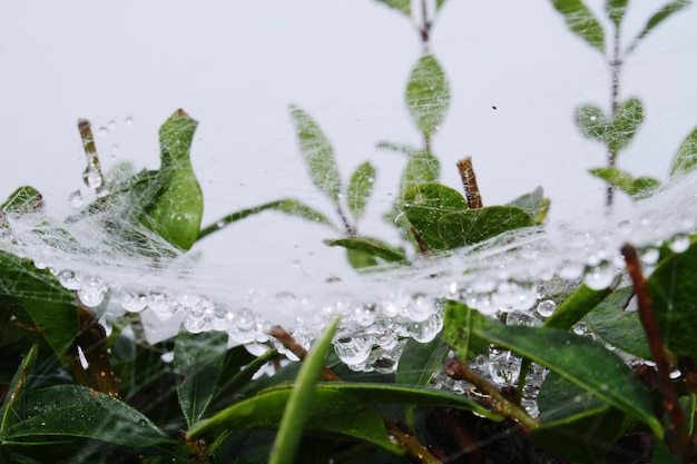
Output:
[[[602,14],[602,1],[588,3]],[[626,42],[664,2],[630,3]],[[697,126],[695,24],[697,9],[676,14],[626,63],[622,99],[638,96],[646,109],[619,160],[634,175],[664,179]],[[443,182],[457,187],[454,162],[472,156],[488,205],[541,185],[557,217],[602,207],[602,184],[587,169],[601,166],[605,152],[579,136],[572,113],[583,102],[608,108],[609,76],[551,1],[449,0],[431,48],[452,95],[434,138]],[[65,215],[85,167],[78,118],[108,128],[97,139],[106,168],[126,159],[153,168],[159,125],[184,108],[200,121],[193,161],[204,223],[288,196],[331,215],[302,165],[288,116],[294,102],[331,139],[344,179],[363,160],[377,166],[362,230],[383,234],[403,159],[375,142],[419,144],[403,92],[420,52],[413,24],[372,0],[3,1],[0,197],[29,184]],[[321,243],[332,235],[265,214],[206,246],[225,247],[217,255],[224,261],[291,273],[300,267],[291,263],[310,273],[314,261],[324,275],[327,263],[343,259]]]

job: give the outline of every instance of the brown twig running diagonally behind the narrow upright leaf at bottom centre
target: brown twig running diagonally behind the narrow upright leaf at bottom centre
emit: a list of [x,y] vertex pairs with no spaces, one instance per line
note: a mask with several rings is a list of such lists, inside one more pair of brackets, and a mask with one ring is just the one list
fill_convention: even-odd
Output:
[[[273,326],[268,334],[275,337],[281,344],[301,361],[307,356],[307,349],[305,349],[287,330],[279,325]],[[341,377],[330,371],[327,367],[322,368],[320,378],[325,382],[341,382]],[[381,414],[382,416],[382,414]],[[406,456],[413,463],[418,464],[441,464],[441,462],[433,456],[429,450],[425,448],[415,436],[402,432],[396,425],[389,421],[385,416],[382,416],[390,440],[395,445],[399,445],[406,452]]]

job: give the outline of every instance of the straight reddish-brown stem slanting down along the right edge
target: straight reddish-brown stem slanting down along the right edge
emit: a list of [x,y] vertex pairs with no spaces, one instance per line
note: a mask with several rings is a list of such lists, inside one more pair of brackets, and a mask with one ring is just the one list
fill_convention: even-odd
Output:
[[668,354],[665,351],[660,332],[656,324],[656,318],[654,317],[651,297],[648,294],[646,279],[641,274],[641,264],[639,263],[638,254],[636,248],[629,244],[622,246],[621,253],[625,257],[625,263],[627,263],[627,270],[629,272],[629,277],[631,278],[637,294],[639,319],[646,333],[651,357],[654,358],[654,363],[656,363],[656,371],[658,372],[658,379],[664,394],[664,404],[668,412],[668,417],[670,418],[668,432],[676,442],[674,443],[676,447],[674,452],[680,457],[680,463],[691,463],[695,453],[690,445],[685,415],[678,404],[678,395],[670,379]]

